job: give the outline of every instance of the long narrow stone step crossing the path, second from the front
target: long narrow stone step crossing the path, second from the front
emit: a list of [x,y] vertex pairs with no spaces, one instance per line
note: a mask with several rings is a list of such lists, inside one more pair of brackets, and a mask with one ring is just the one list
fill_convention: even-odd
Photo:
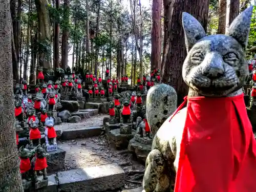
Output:
[[77,139],[77,138],[88,138],[99,136],[101,134],[101,127],[100,126],[92,126],[92,127],[81,127],[78,129],[70,129],[70,130],[63,130],[61,134],[62,140],[70,140],[70,139]]

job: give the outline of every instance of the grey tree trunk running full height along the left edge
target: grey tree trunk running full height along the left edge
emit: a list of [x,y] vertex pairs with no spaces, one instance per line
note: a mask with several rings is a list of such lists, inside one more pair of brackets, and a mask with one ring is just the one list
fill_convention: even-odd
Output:
[[0,19],[0,191],[23,192],[14,127],[10,1],[1,1]]

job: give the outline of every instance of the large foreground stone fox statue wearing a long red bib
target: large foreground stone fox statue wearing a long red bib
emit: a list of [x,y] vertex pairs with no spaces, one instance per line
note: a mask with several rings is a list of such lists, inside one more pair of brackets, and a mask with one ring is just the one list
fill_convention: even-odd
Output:
[[174,183],[175,192],[256,191],[256,141],[242,92],[251,15],[252,7],[225,35],[207,36],[196,18],[183,13],[187,106],[157,131],[146,159],[144,192],[173,191]]

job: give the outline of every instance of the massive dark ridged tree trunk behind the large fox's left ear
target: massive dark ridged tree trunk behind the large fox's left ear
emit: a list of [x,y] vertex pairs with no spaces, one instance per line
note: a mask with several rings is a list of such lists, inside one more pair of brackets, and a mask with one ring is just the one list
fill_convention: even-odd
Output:
[[[173,5],[171,5],[173,3]],[[162,82],[170,84],[178,94],[178,104],[187,95],[188,88],[182,79],[182,65],[186,57],[184,32],[182,28],[182,12],[188,12],[196,17],[206,31],[209,0],[181,1],[164,0],[165,35],[164,50],[166,54],[162,61]],[[172,7],[172,9],[170,9]],[[197,7],[197,9],[195,9]],[[172,10],[172,11],[170,11]],[[168,41],[168,42],[166,42]]]

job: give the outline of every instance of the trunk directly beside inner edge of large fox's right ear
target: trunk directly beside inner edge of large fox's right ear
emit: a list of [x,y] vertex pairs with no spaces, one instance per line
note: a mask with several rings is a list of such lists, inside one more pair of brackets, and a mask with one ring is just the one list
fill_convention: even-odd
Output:
[[239,0],[227,0],[226,31],[229,25],[233,22],[234,18],[239,15],[239,6]]

